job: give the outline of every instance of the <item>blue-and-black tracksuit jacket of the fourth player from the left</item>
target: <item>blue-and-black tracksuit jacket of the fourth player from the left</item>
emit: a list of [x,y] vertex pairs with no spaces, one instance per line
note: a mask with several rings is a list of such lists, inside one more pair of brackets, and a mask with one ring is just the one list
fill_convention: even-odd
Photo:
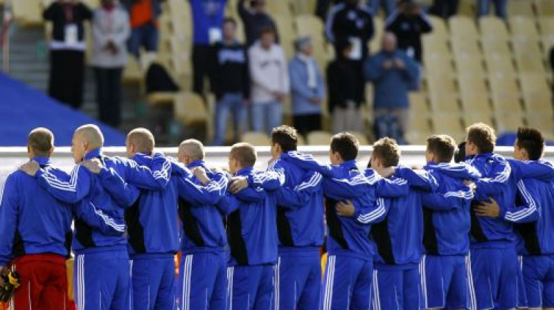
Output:
[[[206,185],[204,194],[181,195],[179,198],[179,217],[183,223],[181,249],[185,254],[223,252],[227,246],[225,214],[217,205],[227,190],[227,177],[209,170],[204,161],[194,161],[188,167],[203,167],[212,181]],[[195,176],[191,174],[189,179],[202,189],[202,184]]]

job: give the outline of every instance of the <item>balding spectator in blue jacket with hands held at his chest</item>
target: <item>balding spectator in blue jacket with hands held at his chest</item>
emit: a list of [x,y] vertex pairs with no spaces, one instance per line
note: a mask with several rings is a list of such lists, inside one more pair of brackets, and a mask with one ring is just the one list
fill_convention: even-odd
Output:
[[[404,51],[397,48],[393,33],[383,35],[382,50],[370,57],[364,66],[366,80],[373,82],[373,110],[375,114],[376,138],[391,136],[399,143],[404,142],[408,129],[408,92],[413,81],[419,79],[418,64]],[[391,127],[400,127],[400,132]],[[386,128],[386,129],[382,129]],[[396,132],[390,134],[390,131]]]

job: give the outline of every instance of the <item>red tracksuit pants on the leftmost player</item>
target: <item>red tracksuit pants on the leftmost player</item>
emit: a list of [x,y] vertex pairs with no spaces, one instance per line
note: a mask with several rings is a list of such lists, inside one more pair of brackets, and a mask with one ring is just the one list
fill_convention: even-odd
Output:
[[13,296],[14,310],[69,310],[64,257],[24,255],[13,266],[21,280]]

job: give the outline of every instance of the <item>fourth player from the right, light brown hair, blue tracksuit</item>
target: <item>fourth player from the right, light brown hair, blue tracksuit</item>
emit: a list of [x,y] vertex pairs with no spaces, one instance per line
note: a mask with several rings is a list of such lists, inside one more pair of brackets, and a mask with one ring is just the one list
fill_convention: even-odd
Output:
[[434,192],[438,184],[425,171],[413,172],[396,167],[400,149],[395,140],[382,138],[373,144],[370,165],[382,176],[407,181],[407,194],[389,195],[379,192],[390,203],[384,221],[371,228],[370,237],[377,246],[375,255],[374,309],[425,309],[425,277],[422,277],[423,191]]

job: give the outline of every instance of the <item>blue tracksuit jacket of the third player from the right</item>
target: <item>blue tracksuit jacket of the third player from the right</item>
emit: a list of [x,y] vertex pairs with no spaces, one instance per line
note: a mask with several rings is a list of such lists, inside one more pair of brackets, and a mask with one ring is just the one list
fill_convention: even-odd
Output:
[[[465,164],[427,163],[424,169],[438,182],[435,193],[422,194],[425,253],[467,255],[470,250],[473,192],[463,181],[475,181],[481,174]],[[444,170],[450,174],[445,175]]]

